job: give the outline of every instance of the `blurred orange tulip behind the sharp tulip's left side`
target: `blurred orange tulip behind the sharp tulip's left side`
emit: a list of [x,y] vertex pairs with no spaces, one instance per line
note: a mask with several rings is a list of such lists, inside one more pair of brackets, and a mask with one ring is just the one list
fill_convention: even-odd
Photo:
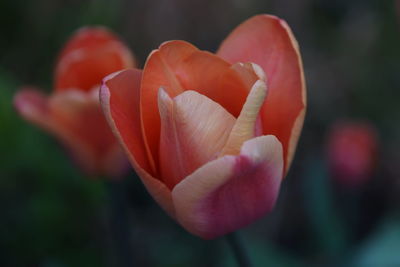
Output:
[[99,87],[104,76],[134,66],[130,51],[109,30],[82,28],[61,51],[51,95],[25,87],[14,105],[24,119],[59,139],[85,172],[118,176],[127,160],[100,108]]

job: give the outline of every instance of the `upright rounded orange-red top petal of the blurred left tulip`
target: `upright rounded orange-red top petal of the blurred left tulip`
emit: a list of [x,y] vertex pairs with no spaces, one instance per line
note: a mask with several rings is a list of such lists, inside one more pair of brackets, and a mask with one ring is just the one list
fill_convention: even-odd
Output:
[[77,31],[61,52],[55,72],[57,91],[79,88],[89,91],[104,76],[136,65],[129,49],[104,27]]

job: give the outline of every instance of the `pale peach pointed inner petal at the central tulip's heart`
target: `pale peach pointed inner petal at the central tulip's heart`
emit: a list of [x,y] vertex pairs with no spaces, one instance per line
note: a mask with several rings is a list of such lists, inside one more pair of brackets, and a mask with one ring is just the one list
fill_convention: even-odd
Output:
[[160,171],[173,188],[203,164],[217,158],[235,118],[223,107],[195,91],[171,99],[161,88]]

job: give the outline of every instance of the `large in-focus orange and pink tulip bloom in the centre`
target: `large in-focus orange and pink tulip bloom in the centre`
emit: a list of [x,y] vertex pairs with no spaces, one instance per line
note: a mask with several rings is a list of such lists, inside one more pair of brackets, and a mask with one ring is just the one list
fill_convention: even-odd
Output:
[[298,45],[281,19],[238,26],[216,54],[163,43],[106,77],[102,107],[154,199],[205,239],[271,211],[305,114]]

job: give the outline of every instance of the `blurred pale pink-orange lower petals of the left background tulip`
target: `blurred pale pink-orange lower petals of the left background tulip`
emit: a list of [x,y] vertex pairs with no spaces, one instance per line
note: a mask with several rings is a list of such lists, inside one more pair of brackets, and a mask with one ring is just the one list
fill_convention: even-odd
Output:
[[22,117],[56,135],[90,174],[119,176],[127,162],[101,113],[98,90],[60,92],[48,99],[32,89],[14,99]]

